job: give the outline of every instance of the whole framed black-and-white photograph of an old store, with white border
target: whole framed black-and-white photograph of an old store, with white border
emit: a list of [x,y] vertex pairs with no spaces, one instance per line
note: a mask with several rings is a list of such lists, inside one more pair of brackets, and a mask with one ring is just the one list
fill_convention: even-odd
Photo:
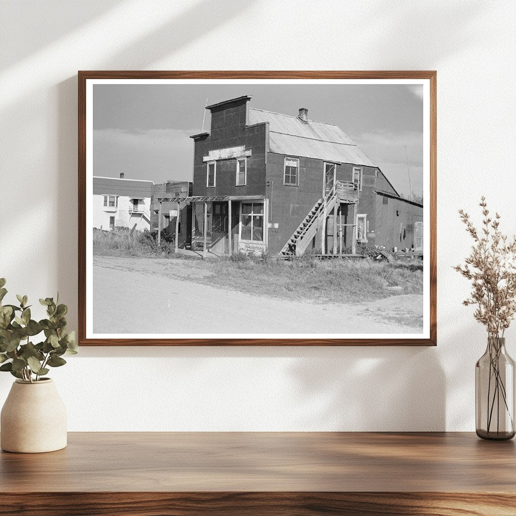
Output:
[[80,345],[436,345],[436,72],[78,73]]

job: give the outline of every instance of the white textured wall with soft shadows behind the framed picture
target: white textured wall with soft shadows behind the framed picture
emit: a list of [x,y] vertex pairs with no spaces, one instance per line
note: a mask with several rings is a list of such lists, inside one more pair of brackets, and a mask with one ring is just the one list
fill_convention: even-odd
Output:
[[70,430],[473,430],[485,334],[451,266],[482,193],[516,230],[515,20],[510,1],[0,2],[0,276],[59,290],[72,327],[78,69],[438,70],[437,348],[85,347],[54,373]]

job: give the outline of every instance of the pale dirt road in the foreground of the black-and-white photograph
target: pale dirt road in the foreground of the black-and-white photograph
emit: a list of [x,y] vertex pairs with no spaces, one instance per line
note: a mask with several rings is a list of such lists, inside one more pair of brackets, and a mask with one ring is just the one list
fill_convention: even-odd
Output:
[[211,272],[186,260],[93,256],[93,332],[352,334],[422,331],[421,295],[392,296],[359,304],[314,303],[217,288],[202,282],[209,274]]

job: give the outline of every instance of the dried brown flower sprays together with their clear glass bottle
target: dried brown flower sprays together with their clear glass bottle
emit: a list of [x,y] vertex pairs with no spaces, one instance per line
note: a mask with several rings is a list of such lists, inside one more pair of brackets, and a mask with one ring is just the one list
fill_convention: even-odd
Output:
[[504,333],[516,313],[516,236],[508,239],[501,233],[500,216],[490,216],[485,197],[479,205],[480,230],[467,213],[459,211],[474,245],[465,264],[454,268],[472,281],[472,293],[463,304],[476,307],[474,317],[488,333],[486,353],[476,367],[477,434],[485,439],[510,439],[514,436],[513,363],[505,353]]

